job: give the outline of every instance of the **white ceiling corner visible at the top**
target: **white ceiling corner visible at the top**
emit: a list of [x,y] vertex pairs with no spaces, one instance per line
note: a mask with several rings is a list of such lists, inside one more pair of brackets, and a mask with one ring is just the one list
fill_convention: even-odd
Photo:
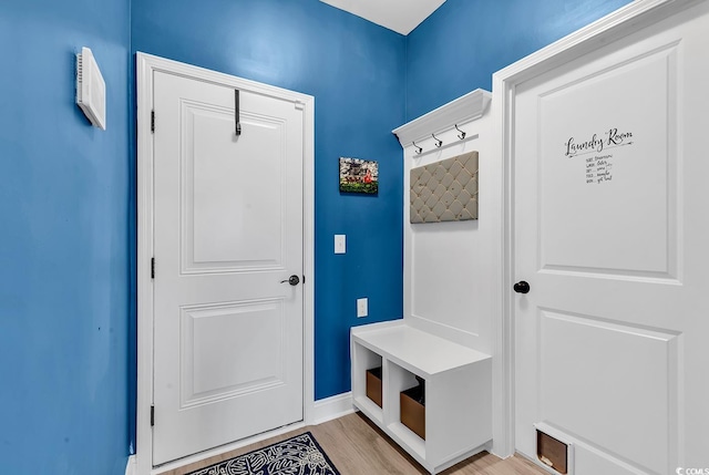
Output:
[[373,23],[409,34],[445,0],[320,0]]

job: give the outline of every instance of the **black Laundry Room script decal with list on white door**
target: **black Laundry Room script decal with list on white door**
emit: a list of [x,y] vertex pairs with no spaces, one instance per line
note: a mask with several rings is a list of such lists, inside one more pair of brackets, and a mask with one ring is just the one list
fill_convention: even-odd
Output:
[[567,158],[585,158],[586,184],[602,184],[613,180],[613,148],[633,145],[633,132],[609,128],[603,135],[594,134],[590,138],[577,140],[572,136],[564,144],[564,156]]

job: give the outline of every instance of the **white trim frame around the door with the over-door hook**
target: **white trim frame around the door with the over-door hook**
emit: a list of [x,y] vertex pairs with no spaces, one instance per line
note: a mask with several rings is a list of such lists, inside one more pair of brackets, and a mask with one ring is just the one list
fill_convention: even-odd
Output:
[[[141,475],[164,471],[153,467],[153,436],[150,424],[153,404],[153,76],[155,72],[195,78],[228,87],[243,89],[264,95],[292,101],[304,112],[304,421],[292,427],[308,424],[315,414],[315,97],[270,86],[204,68],[136,52],[137,93],[137,401],[136,401],[136,462]],[[275,432],[277,432],[276,430]],[[275,433],[274,432],[274,433]],[[282,430],[281,430],[282,432]],[[259,438],[270,436],[266,433]],[[243,444],[242,444],[243,445]],[[234,447],[223,447],[222,452]]]

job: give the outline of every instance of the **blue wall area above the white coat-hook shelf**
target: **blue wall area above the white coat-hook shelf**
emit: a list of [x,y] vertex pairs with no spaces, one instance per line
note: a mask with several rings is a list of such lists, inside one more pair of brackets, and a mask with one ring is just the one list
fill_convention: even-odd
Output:
[[407,121],[629,0],[448,0],[407,37]]

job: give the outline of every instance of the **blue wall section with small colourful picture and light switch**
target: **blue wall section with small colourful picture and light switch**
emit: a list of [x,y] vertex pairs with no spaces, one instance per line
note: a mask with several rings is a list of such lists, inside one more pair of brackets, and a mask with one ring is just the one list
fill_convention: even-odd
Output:
[[[317,0],[140,0],[132,45],[316,97],[315,393],[349,391],[350,327],[402,316],[405,38]],[[379,162],[379,196],[340,195],[340,156]]]

